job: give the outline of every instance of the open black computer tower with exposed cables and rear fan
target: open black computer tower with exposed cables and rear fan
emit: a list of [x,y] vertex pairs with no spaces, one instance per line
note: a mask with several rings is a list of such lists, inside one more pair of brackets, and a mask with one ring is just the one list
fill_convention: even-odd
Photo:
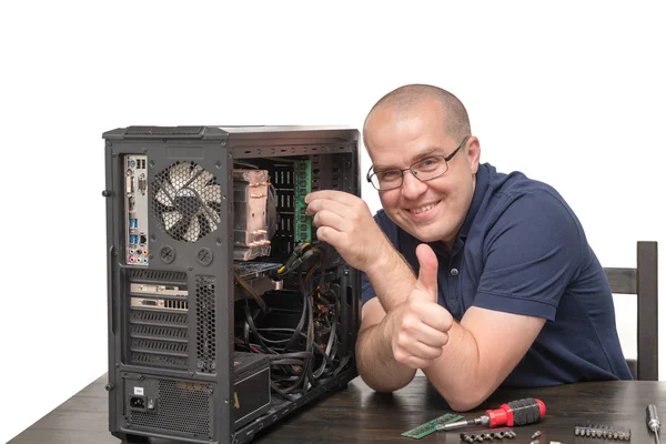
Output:
[[244,443],[356,376],[360,273],[304,198],[360,195],[359,132],[105,132],[109,426]]

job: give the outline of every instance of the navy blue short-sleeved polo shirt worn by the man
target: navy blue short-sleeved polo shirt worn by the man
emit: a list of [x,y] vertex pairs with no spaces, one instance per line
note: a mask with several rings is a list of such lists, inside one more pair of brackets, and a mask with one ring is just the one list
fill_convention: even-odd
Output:
[[[375,221],[414,272],[422,243],[381,210]],[[504,386],[630,380],[608,281],[583,226],[552,186],[481,164],[463,226],[437,255],[438,302],[460,321],[471,306],[544,317],[546,323]],[[363,275],[363,303],[375,297]],[[502,332],[497,332],[502,346]]]

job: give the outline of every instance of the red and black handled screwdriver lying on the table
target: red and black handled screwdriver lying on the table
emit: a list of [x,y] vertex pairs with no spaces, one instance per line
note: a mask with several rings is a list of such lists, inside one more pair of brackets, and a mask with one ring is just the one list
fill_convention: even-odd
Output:
[[500,425],[525,425],[537,422],[546,414],[546,404],[534,397],[511,401],[502,404],[500,408],[486,410],[485,415],[470,421],[456,421],[455,423],[437,425],[437,430],[450,431],[473,425],[497,427]]

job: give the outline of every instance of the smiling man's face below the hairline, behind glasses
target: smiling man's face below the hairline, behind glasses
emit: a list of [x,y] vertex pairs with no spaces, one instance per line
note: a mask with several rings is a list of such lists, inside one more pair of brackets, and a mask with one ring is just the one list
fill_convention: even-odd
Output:
[[[422,101],[408,112],[391,105],[375,109],[365,125],[365,145],[375,171],[405,169],[430,155],[448,155],[461,140],[445,133],[438,102]],[[427,182],[404,171],[401,188],[380,191],[386,214],[422,242],[451,245],[472,203],[478,169],[478,139],[472,137],[451,159],[447,171]]]

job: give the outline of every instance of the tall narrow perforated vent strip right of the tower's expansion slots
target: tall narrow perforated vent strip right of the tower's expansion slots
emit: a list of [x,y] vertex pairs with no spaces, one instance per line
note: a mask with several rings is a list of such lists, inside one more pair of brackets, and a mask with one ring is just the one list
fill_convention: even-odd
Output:
[[196,278],[196,367],[215,373],[215,280]]

